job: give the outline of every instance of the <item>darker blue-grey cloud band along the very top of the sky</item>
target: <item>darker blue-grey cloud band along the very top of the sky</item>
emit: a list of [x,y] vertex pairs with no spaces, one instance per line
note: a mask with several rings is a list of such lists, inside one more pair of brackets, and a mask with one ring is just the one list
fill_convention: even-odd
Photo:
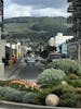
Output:
[[39,8],[63,8],[67,4],[67,0],[12,0],[12,2],[22,5],[38,5]]

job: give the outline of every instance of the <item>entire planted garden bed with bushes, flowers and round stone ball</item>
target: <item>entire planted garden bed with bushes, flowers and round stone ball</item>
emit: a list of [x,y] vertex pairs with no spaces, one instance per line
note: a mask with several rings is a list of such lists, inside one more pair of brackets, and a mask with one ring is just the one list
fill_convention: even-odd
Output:
[[37,83],[0,81],[0,100],[27,104],[28,109],[81,108],[81,65],[71,60],[56,60],[48,64]]

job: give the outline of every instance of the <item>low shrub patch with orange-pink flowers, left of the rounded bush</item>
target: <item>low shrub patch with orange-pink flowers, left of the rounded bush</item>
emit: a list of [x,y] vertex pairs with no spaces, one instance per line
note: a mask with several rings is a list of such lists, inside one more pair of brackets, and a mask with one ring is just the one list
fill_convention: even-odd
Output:
[[26,92],[38,92],[40,89],[39,85],[37,85],[35,82],[27,82],[22,80],[11,81],[9,83],[9,86],[17,90],[26,90]]

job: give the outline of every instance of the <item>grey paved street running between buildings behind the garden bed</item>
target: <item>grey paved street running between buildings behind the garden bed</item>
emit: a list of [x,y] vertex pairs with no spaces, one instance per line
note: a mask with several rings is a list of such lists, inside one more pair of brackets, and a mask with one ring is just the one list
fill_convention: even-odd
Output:
[[14,66],[14,70],[6,72],[8,78],[21,78],[21,80],[36,80],[42,72],[44,65],[40,62],[33,64],[25,63],[24,59],[18,65]]

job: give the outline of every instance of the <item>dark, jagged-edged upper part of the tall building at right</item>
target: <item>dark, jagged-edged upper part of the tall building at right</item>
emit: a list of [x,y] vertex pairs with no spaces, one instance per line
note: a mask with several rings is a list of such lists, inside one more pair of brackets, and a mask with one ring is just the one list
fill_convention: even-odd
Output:
[[68,0],[69,8],[68,12],[71,13],[71,15],[68,17],[68,21],[72,22],[72,32],[75,37],[81,36],[81,0]]

